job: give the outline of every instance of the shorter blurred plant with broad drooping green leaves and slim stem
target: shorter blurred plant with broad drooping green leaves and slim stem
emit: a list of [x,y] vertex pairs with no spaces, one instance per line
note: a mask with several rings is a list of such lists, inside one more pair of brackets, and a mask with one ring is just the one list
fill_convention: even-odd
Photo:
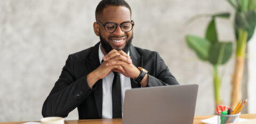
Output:
[[[205,15],[203,15],[205,16]],[[197,57],[203,61],[209,62],[213,67],[213,87],[215,106],[221,104],[221,78],[219,76],[218,67],[227,63],[232,54],[232,42],[223,42],[218,39],[218,31],[216,29],[215,19],[217,17],[229,18],[229,13],[206,15],[211,16],[205,38],[187,35],[186,42],[191,50],[195,51]],[[198,16],[197,16],[198,17]]]

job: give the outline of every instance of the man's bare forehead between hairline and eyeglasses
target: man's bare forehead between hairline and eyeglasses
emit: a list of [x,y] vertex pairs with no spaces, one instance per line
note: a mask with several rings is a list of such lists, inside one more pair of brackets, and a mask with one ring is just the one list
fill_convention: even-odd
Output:
[[108,6],[102,11],[101,17],[102,23],[122,23],[131,20],[130,10],[124,6]]

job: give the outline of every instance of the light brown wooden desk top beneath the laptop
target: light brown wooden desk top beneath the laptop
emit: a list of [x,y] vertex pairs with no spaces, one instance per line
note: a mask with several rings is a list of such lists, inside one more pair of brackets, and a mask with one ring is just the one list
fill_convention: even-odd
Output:
[[[211,118],[213,116],[195,116],[194,124],[201,124],[201,120]],[[255,119],[256,114],[241,114],[240,118],[245,119]],[[10,123],[25,123],[27,121],[20,122],[0,122],[1,124],[10,124]],[[36,121],[39,122],[39,121]],[[65,123],[90,123],[90,124],[121,124],[122,119],[91,119],[91,120],[66,120]]]

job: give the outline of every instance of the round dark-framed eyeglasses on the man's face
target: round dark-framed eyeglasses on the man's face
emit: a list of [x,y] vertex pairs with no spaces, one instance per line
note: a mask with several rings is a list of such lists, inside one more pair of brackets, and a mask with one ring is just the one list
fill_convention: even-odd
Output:
[[[131,22],[133,22],[133,21],[131,21]],[[134,25],[131,22],[123,22],[123,23],[120,23],[120,24],[117,24],[117,23],[114,23],[114,22],[107,22],[106,24],[101,24],[100,22],[97,21],[98,24],[105,27],[105,30],[108,33],[115,32],[118,25],[120,25],[120,28],[123,32],[129,32],[129,31],[132,30],[132,27]]]

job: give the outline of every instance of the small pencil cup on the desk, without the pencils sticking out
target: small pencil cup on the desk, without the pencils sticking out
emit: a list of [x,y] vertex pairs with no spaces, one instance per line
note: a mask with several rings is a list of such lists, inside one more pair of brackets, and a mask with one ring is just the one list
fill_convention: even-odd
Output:
[[218,114],[218,124],[233,123],[239,121],[240,112],[237,114]]

